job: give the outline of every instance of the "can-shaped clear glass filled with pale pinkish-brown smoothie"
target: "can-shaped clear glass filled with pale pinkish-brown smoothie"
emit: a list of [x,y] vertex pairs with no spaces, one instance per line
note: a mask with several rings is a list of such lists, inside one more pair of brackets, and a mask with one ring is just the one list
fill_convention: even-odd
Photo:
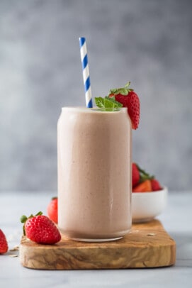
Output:
[[74,240],[130,231],[132,126],[126,108],[64,107],[57,123],[58,226]]

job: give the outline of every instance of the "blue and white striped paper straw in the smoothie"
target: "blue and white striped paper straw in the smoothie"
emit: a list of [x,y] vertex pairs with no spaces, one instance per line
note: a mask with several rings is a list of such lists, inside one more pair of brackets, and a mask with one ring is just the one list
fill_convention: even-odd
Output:
[[80,53],[81,53],[81,63],[83,70],[83,79],[84,79],[84,89],[85,89],[85,99],[86,107],[92,108],[92,97],[91,97],[91,83],[89,77],[89,64],[86,50],[86,39],[84,37],[79,38]]

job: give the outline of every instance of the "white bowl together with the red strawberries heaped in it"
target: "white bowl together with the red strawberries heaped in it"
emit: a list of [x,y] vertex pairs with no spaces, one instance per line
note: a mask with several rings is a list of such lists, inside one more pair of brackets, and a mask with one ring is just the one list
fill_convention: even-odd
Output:
[[139,165],[132,163],[132,222],[147,222],[162,213],[168,190]]

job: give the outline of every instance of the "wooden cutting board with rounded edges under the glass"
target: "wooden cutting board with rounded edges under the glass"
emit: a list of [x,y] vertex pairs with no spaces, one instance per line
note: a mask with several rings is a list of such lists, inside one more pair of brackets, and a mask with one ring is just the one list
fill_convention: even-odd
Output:
[[45,270],[146,268],[174,265],[176,243],[153,220],[135,223],[120,240],[87,243],[62,240],[55,245],[41,245],[23,236],[20,260],[24,267]]

